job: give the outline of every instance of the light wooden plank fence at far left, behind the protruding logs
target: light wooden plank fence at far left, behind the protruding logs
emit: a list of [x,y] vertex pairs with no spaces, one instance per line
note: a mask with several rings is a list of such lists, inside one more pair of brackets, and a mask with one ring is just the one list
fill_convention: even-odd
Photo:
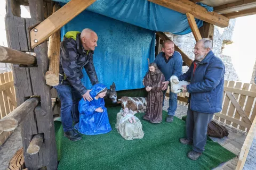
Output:
[[[16,97],[12,72],[0,74],[0,119],[12,112],[16,107]],[[0,131],[0,145],[10,136],[11,132]]]

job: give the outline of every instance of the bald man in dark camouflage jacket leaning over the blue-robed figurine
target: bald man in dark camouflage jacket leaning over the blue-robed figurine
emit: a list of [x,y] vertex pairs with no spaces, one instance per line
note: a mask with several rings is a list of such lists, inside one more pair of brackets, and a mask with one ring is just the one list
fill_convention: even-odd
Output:
[[61,100],[60,114],[64,135],[72,141],[81,140],[81,135],[73,128],[73,121],[79,122],[79,100],[82,97],[84,100],[92,100],[90,90],[81,81],[82,69],[85,69],[93,85],[99,82],[92,58],[97,40],[97,34],[91,29],[84,29],[81,33],[69,31],[60,45],[60,83],[54,88]]

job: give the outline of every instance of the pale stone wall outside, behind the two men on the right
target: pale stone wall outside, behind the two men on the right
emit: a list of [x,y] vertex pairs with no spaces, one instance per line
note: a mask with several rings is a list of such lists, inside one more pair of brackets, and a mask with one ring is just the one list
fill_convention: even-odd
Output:
[[[221,54],[221,52],[222,52],[223,45],[231,43],[235,22],[236,22],[235,19],[230,20],[229,26],[227,28],[219,28],[217,26],[214,27],[213,49],[212,49],[213,53],[217,57],[221,58],[221,60],[226,66],[225,80],[231,80],[231,81],[239,80],[238,75],[232,64],[231,57],[223,55]],[[166,35],[170,39],[172,39],[173,42],[178,47],[180,47],[184,53],[186,53],[189,56],[189,58],[191,58],[192,60],[195,59],[193,49],[196,44],[196,41],[192,32],[183,36],[173,35],[172,33],[166,33]],[[188,67],[183,66],[182,70],[183,72],[186,72],[188,70]]]

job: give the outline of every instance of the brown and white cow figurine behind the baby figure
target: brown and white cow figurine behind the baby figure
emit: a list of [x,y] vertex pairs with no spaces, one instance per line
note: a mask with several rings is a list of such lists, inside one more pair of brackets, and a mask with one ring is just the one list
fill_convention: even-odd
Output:
[[131,109],[133,114],[146,112],[147,107],[147,98],[146,97],[126,97],[123,96],[121,99],[118,99],[117,103],[120,103],[122,109],[125,107]]

